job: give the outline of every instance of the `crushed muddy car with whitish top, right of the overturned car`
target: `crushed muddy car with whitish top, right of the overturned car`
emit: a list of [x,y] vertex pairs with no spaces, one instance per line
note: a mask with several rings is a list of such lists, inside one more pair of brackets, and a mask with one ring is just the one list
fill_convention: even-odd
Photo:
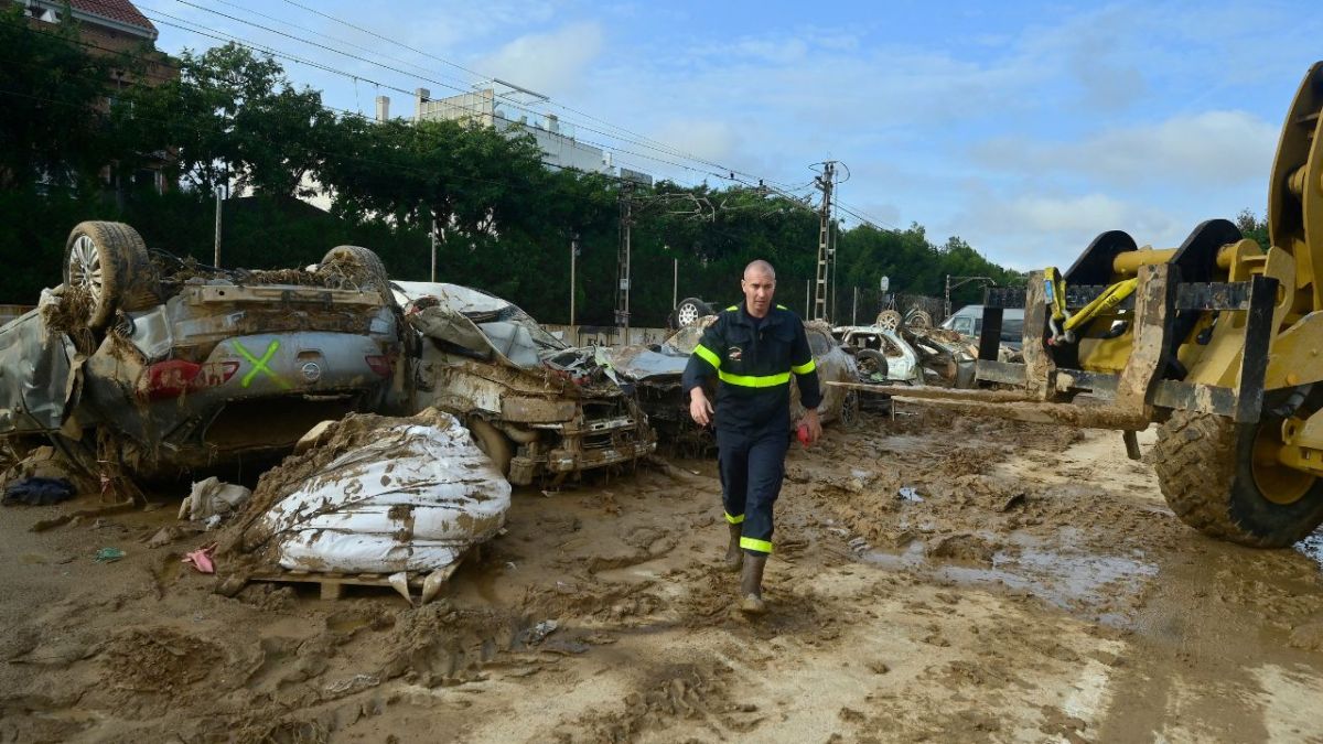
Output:
[[448,283],[393,282],[415,334],[413,408],[464,421],[511,483],[556,486],[656,449],[638,404],[598,361],[515,304]]

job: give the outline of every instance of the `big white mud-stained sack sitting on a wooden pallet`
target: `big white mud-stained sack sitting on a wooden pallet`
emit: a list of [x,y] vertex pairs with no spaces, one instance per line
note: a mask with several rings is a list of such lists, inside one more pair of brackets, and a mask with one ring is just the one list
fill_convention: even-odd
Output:
[[434,572],[500,530],[509,492],[448,413],[351,416],[262,477],[217,555],[247,553],[266,573]]

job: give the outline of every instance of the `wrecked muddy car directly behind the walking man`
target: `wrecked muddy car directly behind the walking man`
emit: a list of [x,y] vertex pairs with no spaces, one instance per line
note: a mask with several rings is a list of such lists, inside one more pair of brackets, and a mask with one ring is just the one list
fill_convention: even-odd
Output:
[[[699,346],[703,331],[716,320],[716,315],[703,318],[668,338],[662,344],[627,346],[606,349],[617,375],[627,380],[639,398],[648,420],[652,421],[663,441],[693,451],[701,451],[713,445],[710,430],[697,426],[689,418],[689,405],[684,397],[680,379],[689,355]],[[855,360],[847,355],[831,336],[831,328],[822,322],[804,322],[804,334],[818,365],[818,377],[823,384],[823,402],[818,406],[823,424],[840,421],[853,424],[859,414],[859,397],[853,391],[845,391],[828,381],[853,383],[857,380]],[[803,416],[799,404],[799,385],[790,385],[791,418]]]

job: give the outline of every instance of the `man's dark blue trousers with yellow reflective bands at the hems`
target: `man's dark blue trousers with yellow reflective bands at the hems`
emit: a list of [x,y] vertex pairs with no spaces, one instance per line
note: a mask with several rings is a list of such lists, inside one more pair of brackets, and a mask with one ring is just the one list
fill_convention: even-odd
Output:
[[782,426],[762,432],[717,429],[717,465],[726,522],[740,524],[740,547],[747,553],[771,552],[773,507],[786,474],[790,437]]

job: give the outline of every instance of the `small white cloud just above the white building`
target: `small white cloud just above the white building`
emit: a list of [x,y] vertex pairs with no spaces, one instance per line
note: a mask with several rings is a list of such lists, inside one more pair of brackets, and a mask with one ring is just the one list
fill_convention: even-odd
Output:
[[585,70],[602,52],[602,26],[574,23],[549,33],[529,33],[476,62],[476,68],[548,95],[582,82]]

